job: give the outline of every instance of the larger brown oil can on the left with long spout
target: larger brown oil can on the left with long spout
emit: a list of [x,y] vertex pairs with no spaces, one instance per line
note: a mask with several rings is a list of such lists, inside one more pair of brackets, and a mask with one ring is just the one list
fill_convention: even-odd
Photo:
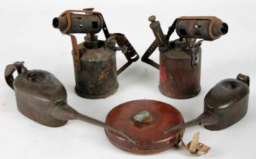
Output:
[[[19,75],[14,79],[15,70]],[[82,120],[111,130],[127,142],[136,144],[136,140],[125,132],[78,113],[70,107],[66,100],[65,87],[50,72],[27,70],[22,62],[16,62],[5,68],[5,80],[15,91],[19,111],[37,123],[50,127],[60,127],[65,125],[68,120]]]

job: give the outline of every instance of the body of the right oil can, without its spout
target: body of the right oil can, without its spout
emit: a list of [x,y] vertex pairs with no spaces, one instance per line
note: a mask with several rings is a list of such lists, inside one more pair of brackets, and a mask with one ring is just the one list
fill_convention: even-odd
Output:
[[218,82],[204,99],[204,112],[218,116],[218,123],[205,125],[208,130],[222,130],[245,117],[248,109],[249,86],[237,79]]

